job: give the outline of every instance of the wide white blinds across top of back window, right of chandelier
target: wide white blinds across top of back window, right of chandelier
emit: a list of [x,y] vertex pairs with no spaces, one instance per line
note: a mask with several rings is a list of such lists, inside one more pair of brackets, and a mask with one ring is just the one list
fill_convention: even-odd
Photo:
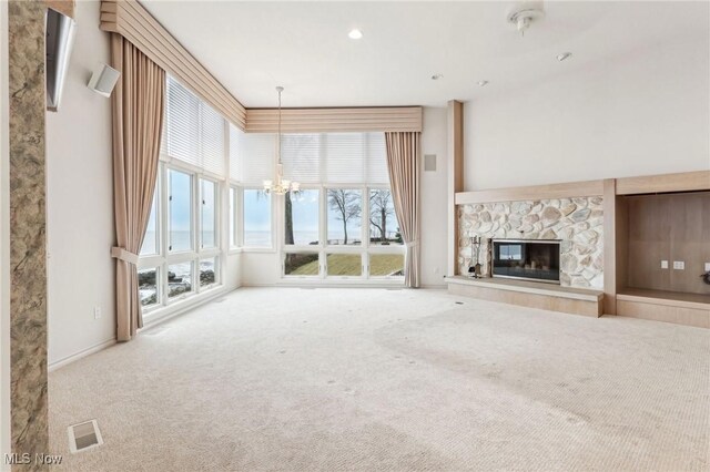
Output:
[[304,184],[388,184],[384,133],[284,134],[284,175]]

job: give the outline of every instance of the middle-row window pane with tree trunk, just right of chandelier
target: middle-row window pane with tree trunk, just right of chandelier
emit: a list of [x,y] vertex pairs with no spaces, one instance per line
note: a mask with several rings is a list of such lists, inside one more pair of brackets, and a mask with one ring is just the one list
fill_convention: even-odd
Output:
[[284,244],[312,246],[318,244],[320,192],[304,189],[284,196]]

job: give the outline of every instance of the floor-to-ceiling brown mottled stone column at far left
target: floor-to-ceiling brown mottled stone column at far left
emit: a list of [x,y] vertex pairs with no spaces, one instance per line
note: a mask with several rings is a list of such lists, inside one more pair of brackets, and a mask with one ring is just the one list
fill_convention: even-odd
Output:
[[8,2],[10,93],[10,362],[12,452],[49,453],[44,176],[44,17]]

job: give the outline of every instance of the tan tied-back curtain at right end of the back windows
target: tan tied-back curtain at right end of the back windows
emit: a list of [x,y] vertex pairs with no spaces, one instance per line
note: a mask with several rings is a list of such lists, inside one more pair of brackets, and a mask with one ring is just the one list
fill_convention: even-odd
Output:
[[407,247],[405,285],[419,286],[419,154],[422,133],[385,133],[389,185]]

